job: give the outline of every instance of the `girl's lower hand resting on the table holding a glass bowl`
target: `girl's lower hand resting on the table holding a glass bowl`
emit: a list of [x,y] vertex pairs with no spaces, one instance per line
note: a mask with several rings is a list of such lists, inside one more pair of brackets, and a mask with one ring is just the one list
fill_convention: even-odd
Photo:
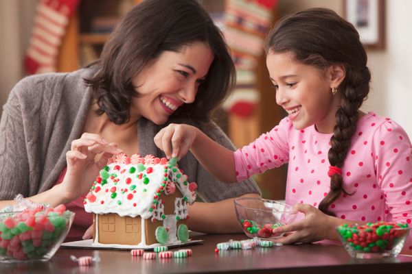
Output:
[[[325,239],[337,240],[334,225],[334,219],[336,218],[324,214],[308,204],[297,203],[293,208],[304,213],[305,218],[274,228],[273,234],[286,233],[286,236],[275,239],[275,242],[292,244],[294,242],[316,242]],[[336,237],[334,234],[336,234]]]

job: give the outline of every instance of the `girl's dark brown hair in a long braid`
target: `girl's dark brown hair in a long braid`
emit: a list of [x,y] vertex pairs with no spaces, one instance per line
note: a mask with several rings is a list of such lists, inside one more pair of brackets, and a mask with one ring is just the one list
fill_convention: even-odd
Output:
[[[342,168],[356,131],[358,109],[367,97],[371,79],[358,32],[334,11],[312,8],[288,16],[273,27],[266,38],[265,50],[266,53],[293,53],[299,62],[321,70],[331,64],[345,66],[345,79],[338,87],[341,106],[336,111],[328,152],[330,165]],[[328,208],[342,192],[348,194],[343,188],[343,177],[332,175],[330,192],[319,203],[319,210],[334,216]]]

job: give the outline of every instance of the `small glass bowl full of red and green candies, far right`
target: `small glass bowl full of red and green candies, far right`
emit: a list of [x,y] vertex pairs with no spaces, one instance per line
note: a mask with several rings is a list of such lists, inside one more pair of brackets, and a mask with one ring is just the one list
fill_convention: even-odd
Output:
[[356,259],[395,258],[409,235],[407,224],[367,223],[343,224],[336,228],[347,253]]

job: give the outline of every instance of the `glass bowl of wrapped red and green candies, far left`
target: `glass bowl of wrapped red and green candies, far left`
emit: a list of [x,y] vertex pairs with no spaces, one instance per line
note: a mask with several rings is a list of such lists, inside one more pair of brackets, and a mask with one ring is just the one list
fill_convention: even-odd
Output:
[[74,219],[73,212],[55,209],[0,213],[0,262],[52,258]]

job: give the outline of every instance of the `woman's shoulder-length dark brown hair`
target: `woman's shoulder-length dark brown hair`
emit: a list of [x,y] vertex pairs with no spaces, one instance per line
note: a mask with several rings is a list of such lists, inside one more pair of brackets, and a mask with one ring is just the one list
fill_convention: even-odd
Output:
[[139,96],[133,78],[164,51],[178,52],[204,42],[214,53],[205,82],[194,103],[181,106],[172,116],[207,122],[236,80],[227,45],[209,14],[195,0],[145,0],[124,15],[95,62],[99,71],[85,82],[92,87],[99,115],[116,124],[130,119],[130,101]]

